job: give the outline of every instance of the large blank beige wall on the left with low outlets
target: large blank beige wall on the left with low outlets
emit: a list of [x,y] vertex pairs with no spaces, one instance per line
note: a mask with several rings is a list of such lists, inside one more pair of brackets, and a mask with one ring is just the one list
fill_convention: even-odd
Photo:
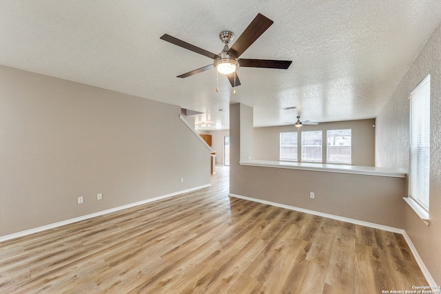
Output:
[[208,185],[209,150],[180,113],[0,66],[0,235]]

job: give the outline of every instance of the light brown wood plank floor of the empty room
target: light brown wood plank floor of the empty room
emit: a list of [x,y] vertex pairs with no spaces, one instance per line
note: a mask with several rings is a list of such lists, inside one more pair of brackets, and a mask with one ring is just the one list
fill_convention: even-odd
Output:
[[427,285],[402,235],[212,187],[0,243],[0,293],[382,293]]

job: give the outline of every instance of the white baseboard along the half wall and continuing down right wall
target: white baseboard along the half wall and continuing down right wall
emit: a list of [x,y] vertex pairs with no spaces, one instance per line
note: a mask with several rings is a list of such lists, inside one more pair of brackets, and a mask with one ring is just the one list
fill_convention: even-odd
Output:
[[300,211],[300,212],[304,212],[304,213],[309,213],[309,214],[312,214],[314,216],[322,216],[323,218],[331,218],[333,220],[341,220],[343,222],[349,222],[351,224],[359,224],[361,226],[370,227],[370,228],[373,228],[373,229],[380,229],[380,230],[383,230],[383,231],[389,231],[389,232],[392,232],[392,233],[402,234],[403,237],[404,237],[404,240],[406,240],[406,242],[407,242],[407,245],[409,245],[409,249],[411,249],[411,251],[412,251],[413,257],[416,259],[416,262],[418,263],[418,266],[420,266],[422,274],[424,275],[424,277],[426,278],[427,282],[429,283],[429,286],[437,286],[437,284],[435,283],[435,280],[433,280],[433,277],[429,273],[429,270],[427,269],[427,267],[425,266],[424,262],[420,258],[420,255],[418,254],[418,251],[416,251],[415,246],[413,246],[411,238],[409,238],[409,235],[407,235],[407,233],[406,233],[406,231],[404,231],[404,229],[388,227],[388,226],[384,226],[382,224],[375,224],[373,222],[365,222],[363,220],[355,220],[353,218],[345,218],[343,216],[336,216],[334,214],[322,213],[320,211],[303,209],[303,208],[300,208],[300,207],[293,207],[293,206],[287,205],[287,204],[281,204],[281,203],[277,203],[277,202],[271,202],[271,201],[267,201],[267,200],[251,198],[251,197],[247,197],[247,196],[241,196],[241,195],[237,195],[237,194],[234,194],[234,193],[229,193],[229,196],[234,197],[234,198],[240,198],[240,199],[245,199],[245,200],[249,200],[249,201],[259,202],[259,203],[263,203],[263,204],[268,204],[268,205],[272,205],[272,206],[275,206],[275,207],[281,207],[281,208],[290,209],[290,210],[294,210],[294,211]]

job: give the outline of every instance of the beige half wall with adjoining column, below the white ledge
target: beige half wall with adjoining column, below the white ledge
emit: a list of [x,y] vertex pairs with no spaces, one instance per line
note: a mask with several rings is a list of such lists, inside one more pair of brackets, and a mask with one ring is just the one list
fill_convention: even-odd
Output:
[[402,228],[404,178],[239,165],[240,136],[253,129],[247,123],[249,109],[230,105],[230,193]]

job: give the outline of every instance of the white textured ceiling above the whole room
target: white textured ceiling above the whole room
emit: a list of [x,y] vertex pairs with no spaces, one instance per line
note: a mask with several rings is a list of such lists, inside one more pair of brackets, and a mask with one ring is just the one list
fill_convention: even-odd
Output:
[[[0,0],[0,64],[203,112],[229,127],[229,104],[254,107],[254,125],[374,118],[441,21],[438,0]],[[240,56],[293,61],[242,67],[232,94],[212,63],[159,37],[219,53],[258,12],[274,24]],[[298,109],[283,110],[297,106]],[[223,109],[223,111],[219,111]]]

